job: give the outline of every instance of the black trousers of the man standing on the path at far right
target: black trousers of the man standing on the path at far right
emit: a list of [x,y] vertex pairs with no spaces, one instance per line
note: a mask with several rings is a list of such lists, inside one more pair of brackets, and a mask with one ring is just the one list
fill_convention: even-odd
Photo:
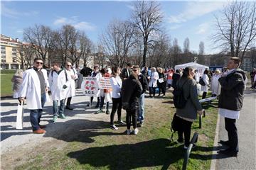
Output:
[[225,118],[225,130],[228,131],[230,149],[233,152],[238,152],[238,129],[235,126],[235,119]]

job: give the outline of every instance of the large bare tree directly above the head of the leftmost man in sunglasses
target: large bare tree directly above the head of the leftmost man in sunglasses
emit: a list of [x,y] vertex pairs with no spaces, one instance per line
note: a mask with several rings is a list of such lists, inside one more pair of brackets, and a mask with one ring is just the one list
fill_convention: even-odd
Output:
[[33,50],[36,50],[37,57],[41,57],[45,63],[49,50],[53,48],[52,30],[48,26],[35,25],[23,31],[23,39],[31,44]]

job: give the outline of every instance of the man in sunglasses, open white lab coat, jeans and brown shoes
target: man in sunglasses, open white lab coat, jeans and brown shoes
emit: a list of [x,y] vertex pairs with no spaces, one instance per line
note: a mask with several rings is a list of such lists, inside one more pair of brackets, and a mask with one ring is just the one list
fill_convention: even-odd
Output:
[[44,125],[39,125],[43,113],[43,106],[46,103],[48,93],[48,77],[46,69],[43,69],[43,60],[35,58],[33,68],[27,69],[23,74],[23,82],[19,91],[20,100],[26,97],[27,108],[31,111],[30,120],[33,133],[45,133]]

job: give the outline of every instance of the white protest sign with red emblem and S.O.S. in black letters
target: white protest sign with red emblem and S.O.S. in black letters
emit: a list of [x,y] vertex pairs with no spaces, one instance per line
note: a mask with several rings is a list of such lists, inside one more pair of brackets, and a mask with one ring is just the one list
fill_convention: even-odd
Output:
[[97,96],[99,85],[95,77],[85,77],[81,84],[81,89],[85,96]]

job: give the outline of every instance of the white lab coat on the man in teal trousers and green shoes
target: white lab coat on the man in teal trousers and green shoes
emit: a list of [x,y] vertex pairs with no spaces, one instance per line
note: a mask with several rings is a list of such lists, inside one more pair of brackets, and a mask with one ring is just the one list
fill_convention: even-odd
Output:
[[50,84],[52,99],[53,101],[61,101],[67,98],[68,87],[66,89],[63,89],[63,86],[64,85],[70,86],[71,77],[69,74],[67,74],[68,81],[66,81],[65,70],[62,70],[60,74],[53,72],[53,77],[51,72],[49,74],[49,84]]

